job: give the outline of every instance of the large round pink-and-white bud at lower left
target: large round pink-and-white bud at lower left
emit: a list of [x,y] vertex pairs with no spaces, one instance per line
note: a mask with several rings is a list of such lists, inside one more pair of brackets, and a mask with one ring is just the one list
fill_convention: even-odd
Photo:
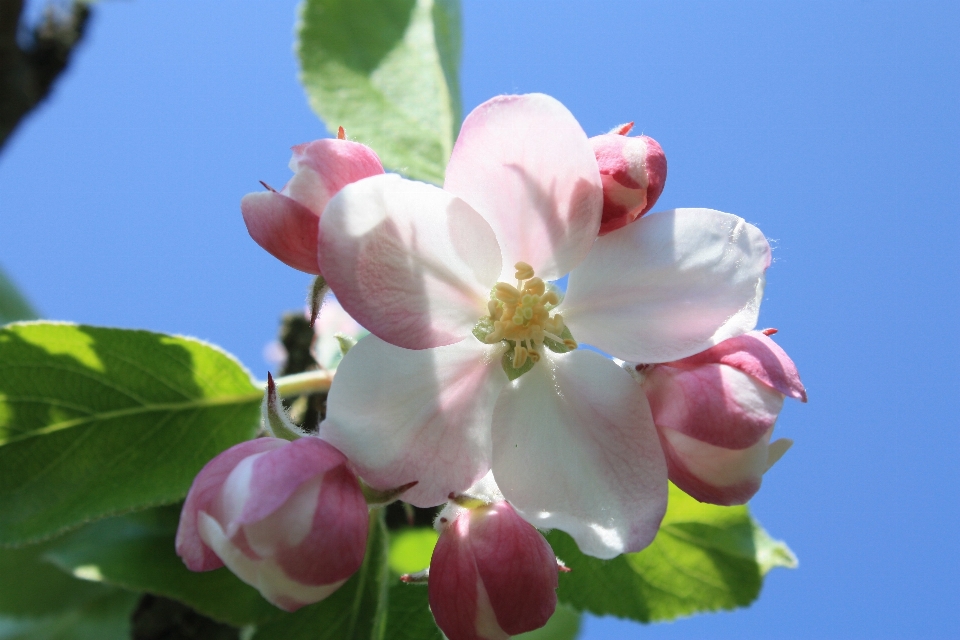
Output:
[[287,611],[323,600],[363,563],[367,504],[342,453],[319,438],[257,438],[211,460],[190,487],[177,554],[224,564]]

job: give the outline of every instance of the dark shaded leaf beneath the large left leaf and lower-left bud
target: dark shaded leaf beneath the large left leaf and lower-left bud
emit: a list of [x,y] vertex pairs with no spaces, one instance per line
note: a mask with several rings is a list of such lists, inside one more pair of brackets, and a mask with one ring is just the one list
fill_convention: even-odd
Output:
[[45,557],[92,585],[165,596],[236,627],[282,614],[226,568],[187,569],[174,550],[179,518],[174,505],[100,520],[48,543]]

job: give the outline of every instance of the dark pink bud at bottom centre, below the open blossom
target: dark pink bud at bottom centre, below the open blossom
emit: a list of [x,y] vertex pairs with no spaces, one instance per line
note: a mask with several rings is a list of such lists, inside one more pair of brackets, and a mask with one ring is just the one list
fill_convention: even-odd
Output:
[[557,558],[513,507],[464,509],[441,529],[430,609],[450,640],[499,640],[547,623],[557,606]]

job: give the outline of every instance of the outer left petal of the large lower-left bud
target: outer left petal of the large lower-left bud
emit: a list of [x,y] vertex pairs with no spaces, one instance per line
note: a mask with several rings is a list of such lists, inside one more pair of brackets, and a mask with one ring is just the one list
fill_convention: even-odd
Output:
[[223,566],[216,553],[204,544],[198,529],[198,514],[211,511],[220,489],[233,469],[245,458],[272,451],[286,444],[278,438],[257,438],[230,447],[203,467],[194,478],[187,500],[180,512],[176,549],[191,571],[211,571]]

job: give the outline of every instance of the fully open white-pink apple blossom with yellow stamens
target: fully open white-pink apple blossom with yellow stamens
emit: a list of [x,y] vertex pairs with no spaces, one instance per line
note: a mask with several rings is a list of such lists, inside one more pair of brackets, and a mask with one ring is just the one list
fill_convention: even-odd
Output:
[[[527,521],[601,558],[649,544],[666,463],[624,360],[670,362],[751,329],[766,239],[706,209],[600,238],[587,136],[549,96],[465,120],[442,189],[396,175],[344,187],[320,267],[373,335],[340,363],[321,435],[375,487],[441,504],[492,469]],[[570,274],[565,298],[547,281]],[[508,375],[509,372],[509,375]]]

